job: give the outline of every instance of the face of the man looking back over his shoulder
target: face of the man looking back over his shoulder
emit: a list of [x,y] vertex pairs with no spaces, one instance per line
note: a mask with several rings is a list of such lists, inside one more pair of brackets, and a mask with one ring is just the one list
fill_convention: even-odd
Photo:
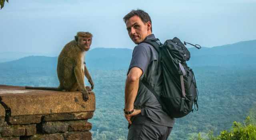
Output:
[[151,23],[143,23],[139,16],[133,16],[126,21],[126,29],[132,41],[139,44],[151,34]]

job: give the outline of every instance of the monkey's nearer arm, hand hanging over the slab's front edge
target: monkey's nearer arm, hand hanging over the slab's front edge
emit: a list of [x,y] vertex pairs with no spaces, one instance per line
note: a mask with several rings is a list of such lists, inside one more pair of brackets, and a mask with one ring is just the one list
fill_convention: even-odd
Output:
[[84,78],[82,77],[82,76],[84,76],[84,74],[82,73],[82,69],[80,66],[76,66],[74,68],[74,73],[76,76],[78,86],[82,90],[83,99],[84,99],[84,101],[87,101],[88,100],[88,91],[85,89],[85,86],[84,86]]

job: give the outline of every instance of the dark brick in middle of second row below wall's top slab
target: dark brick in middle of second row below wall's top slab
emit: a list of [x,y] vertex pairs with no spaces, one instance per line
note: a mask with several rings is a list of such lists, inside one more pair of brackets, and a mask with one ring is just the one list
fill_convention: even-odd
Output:
[[38,130],[42,133],[53,134],[53,133],[64,133],[68,131],[68,125],[66,122],[44,122],[42,124],[38,124]]

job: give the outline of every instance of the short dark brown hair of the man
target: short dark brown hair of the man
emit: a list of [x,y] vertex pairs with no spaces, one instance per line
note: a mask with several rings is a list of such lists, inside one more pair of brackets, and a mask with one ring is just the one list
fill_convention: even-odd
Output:
[[132,18],[133,16],[138,16],[140,17],[140,19],[142,20],[142,22],[145,24],[148,21],[151,23],[151,31],[152,31],[152,21],[150,19],[150,16],[148,15],[148,13],[144,12],[143,10],[132,10],[130,13],[128,13],[126,16],[124,16],[124,23],[126,23],[126,21],[130,18]]

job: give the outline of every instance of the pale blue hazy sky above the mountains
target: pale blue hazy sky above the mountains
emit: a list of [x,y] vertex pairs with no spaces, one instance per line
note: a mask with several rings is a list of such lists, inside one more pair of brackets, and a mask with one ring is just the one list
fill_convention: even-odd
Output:
[[132,9],[151,16],[164,42],[214,47],[256,39],[256,0],[9,0],[0,10],[1,52],[58,56],[78,31],[92,48],[134,48],[122,18]]

